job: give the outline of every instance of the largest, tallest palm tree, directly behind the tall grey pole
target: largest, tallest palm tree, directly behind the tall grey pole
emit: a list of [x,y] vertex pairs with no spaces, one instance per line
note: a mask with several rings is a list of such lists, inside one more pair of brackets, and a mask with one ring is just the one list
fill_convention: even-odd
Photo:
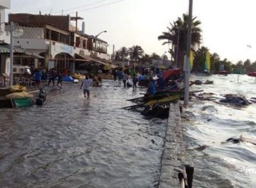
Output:
[[[197,17],[192,18],[191,45],[194,51],[196,51],[201,43],[201,29],[199,28],[201,22],[196,19]],[[174,57],[176,57],[178,53],[177,67],[181,67],[183,65],[183,57],[186,54],[188,15],[183,14],[182,18],[178,18],[173,23],[170,23],[170,25],[171,27],[167,27],[168,31],[163,32],[162,35],[158,37],[158,40],[167,40],[163,42],[163,45],[168,43],[173,45],[173,49],[170,49],[170,53],[175,55]]]

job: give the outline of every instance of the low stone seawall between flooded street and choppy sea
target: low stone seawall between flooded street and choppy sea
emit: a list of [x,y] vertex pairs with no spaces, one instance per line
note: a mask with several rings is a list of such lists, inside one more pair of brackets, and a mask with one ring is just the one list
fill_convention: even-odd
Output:
[[170,104],[158,188],[180,187],[177,174],[184,169],[183,156],[185,144],[183,140],[183,127],[179,103]]

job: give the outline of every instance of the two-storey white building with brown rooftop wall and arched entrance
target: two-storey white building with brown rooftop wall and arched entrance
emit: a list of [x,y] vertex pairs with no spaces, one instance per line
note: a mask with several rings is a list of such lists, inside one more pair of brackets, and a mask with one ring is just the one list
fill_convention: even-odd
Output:
[[91,61],[93,57],[110,60],[107,42],[74,29],[69,15],[9,14],[10,21],[23,29],[23,35],[14,39],[14,46],[45,57],[35,68],[54,67],[59,72],[68,69],[73,73],[76,63]]

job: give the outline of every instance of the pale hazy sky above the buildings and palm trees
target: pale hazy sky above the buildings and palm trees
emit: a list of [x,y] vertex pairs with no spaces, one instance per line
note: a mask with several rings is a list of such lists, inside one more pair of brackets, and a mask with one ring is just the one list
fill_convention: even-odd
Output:
[[[108,52],[140,45],[160,56],[170,45],[158,36],[188,12],[189,0],[11,0],[8,13],[70,14],[84,18],[85,32],[109,43]],[[108,4],[108,5],[107,5]],[[194,0],[193,16],[202,22],[202,44],[232,63],[256,61],[256,0]],[[81,26],[81,22],[79,22]],[[250,45],[251,48],[247,47]],[[168,54],[168,53],[167,53]],[[169,54],[168,54],[169,55]],[[170,55],[169,55],[170,57]]]

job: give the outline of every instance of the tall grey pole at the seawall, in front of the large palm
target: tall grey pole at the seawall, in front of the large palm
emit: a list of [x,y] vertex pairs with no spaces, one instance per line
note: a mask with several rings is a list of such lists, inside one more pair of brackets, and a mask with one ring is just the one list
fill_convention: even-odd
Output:
[[187,27],[187,41],[186,41],[186,70],[185,70],[185,93],[184,104],[189,102],[189,77],[190,77],[190,51],[191,51],[191,34],[192,34],[192,10],[193,0],[189,0],[189,14]]

